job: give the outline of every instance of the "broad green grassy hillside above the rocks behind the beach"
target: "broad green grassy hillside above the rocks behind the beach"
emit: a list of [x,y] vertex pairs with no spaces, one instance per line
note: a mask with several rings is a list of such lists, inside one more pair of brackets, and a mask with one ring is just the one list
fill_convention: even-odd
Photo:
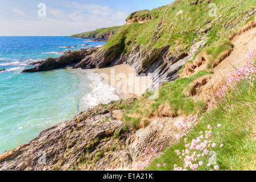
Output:
[[[129,52],[135,44],[144,45],[151,49],[171,45],[170,51],[175,54],[176,51],[188,51],[194,39],[200,41],[197,33],[199,30],[205,30],[209,26],[212,29],[208,33],[201,34],[201,37],[207,36],[209,40],[207,45],[216,42],[229,31],[224,27],[231,22],[232,25],[242,22],[243,11],[249,11],[255,7],[254,0],[215,0],[217,5],[217,16],[222,15],[220,19],[210,17],[208,3],[201,3],[193,6],[191,1],[177,0],[171,5],[159,7],[151,11],[143,10],[131,14],[127,19],[135,16],[152,16],[153,19],[143,23],[133,23],[129,26],[123,26],[121,31],[116,34],[102,49],[108,49],[115,46],[121,47],[120,52]],[[210,22],[210,23],[208,23]],[[159,24],[160,23],[160,24]],[[160,28],[161,27],[161,28]],[[160,35],[160,38],[157,38]],[[125,43],[130,46],[125,46]]]

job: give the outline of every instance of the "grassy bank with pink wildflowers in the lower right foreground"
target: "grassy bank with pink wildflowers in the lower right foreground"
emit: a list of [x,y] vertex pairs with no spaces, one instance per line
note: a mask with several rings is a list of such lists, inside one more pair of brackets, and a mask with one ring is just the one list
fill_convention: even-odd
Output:
[[230,72],[225,85],[211,95],[206,113],[189,115],[187,123],[180,123],[183,125],[181,138],[167,147],[160,158],[152,160],[147,170],[256,169],[256,67],[253,60],[255,50],[250,53],[247,64]]

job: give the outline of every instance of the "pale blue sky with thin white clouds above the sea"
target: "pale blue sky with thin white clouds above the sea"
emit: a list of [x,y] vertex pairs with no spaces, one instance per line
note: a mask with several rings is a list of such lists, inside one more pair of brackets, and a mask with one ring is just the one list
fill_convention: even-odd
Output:
[[0,36],[69,36],[119,26],[134,11],[152,10],[173,1],[0,0]]

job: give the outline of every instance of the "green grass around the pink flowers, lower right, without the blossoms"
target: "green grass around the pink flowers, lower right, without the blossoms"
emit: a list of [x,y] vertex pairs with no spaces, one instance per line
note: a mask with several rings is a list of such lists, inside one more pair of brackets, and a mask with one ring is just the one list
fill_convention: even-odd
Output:
[[[253,81],[253,86],[256,81]],[[234,91],[234,98],[228,95],[223,101],[218,104],[218,107],[208,113],[205,113],[204,118],[206,123],[199,122],[195,130],[188,134],[188,143],[191,143],[193,138],[200,136],[200,131],[205,131],[207,125],[212,125],[212,132],[216,135],[213,142],[217,144],[214,152],[217,154],[217,165],[220,170],[255,170],[256,169],[256,90],[250,88],[249,83],[241,82],[239,89]],[[226,105],[229,105],[226,110],[223,110]],[[216,127],[221,124],[221,127]],[[204,140],[204,139],[203,139]],[[220,144],[224,144],[220,148]],[[174,164],[183,167],[184,161],[179,159],[175,150],[185,150],[184,138],[180,143],[174,144],[172,147],[167,147],[163,155],[156,159],[146,168],[146,170],[174,170]],[[209,155],[205,156],[205,163],[200,170],[209,170],[206,166]],[[200,159],[202,160],[202,159]],[[163,167],[166,163],[166,167]],[[156,167],[156,164],[161,164],[161,167]]]

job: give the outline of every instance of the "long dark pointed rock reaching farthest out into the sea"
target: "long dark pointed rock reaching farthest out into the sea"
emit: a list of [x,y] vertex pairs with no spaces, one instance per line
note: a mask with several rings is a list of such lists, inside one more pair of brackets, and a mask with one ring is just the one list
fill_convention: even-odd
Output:
[[82,59],[84,59],[84,57],[92,55],[92,53],[97,49],[97,47],[91,47],[87,49],[80,49],[79,51],[67,51],[64,52],[64,55],[58,58],[49,57],[42,63],[36,65],[36,67],[23,70],[22,73],[47,71],[56,68],[64,68],[72,64],[77,64]]

